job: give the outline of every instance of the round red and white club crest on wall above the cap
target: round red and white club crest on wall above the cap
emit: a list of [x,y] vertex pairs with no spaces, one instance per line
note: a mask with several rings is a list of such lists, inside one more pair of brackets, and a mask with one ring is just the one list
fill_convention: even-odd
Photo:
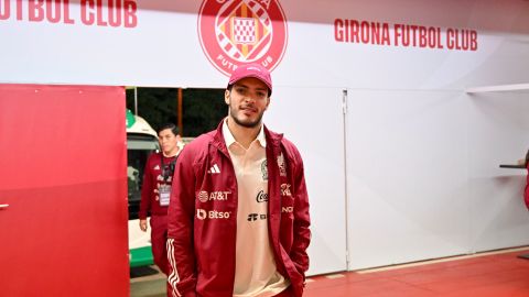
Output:
[[227,76],[245,63],[271,72],[287,48],[287,19],[278,0],[204,0],[198,36],[209,62]]

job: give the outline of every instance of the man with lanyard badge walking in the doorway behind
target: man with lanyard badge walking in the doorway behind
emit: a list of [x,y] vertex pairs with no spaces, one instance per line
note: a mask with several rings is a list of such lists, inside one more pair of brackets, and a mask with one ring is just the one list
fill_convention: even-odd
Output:
[[181,142],[176,125],[173,123],[162,125],[158,130],[158,141],[162,152],[151,154],[147,161],[138,216],[141,231],[147,232],[147,216],[151,215],[152,256],[154,264],[166,275],[168,206]]

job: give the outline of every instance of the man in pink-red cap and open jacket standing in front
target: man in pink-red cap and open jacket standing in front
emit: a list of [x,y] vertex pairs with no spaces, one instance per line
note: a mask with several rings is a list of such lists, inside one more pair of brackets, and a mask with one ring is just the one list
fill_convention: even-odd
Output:
[[309,198],[296,147],[262,124],[271,92],[266,68],[239,66],[225,91],[228,117],[176,162],[169,296],[302,296]]

